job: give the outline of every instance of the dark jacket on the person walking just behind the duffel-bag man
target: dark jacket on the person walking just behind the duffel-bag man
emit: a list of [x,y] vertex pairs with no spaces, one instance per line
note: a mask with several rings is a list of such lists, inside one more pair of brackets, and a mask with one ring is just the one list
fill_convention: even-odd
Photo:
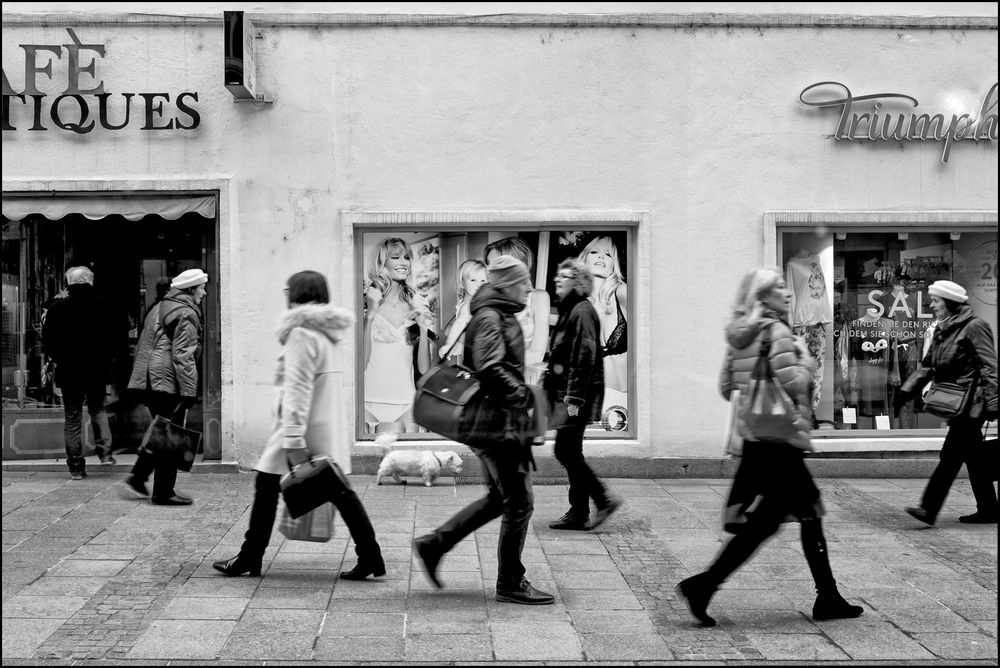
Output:
[[580,407],[575,421],[601,419],[604,364],[600,331],[601,321],[590,300],[576,292],[559,300],[544,387],[550,404],[565,402]]

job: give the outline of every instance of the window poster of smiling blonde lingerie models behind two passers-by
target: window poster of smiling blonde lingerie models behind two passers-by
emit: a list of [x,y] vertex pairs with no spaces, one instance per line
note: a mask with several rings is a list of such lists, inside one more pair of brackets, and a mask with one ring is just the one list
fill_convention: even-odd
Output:
[[535,384],[545,372],[558,318],[554,276],[559,263],[571,259],[590,268],[591,302],[601,321],[605,398],[602,419],[590,425],[587,436],[634,436],[626,230],[378,230],[358,238],[359,397],[364,403],[359,437],[386,432],[400,439],[433,437],[413,421],[416,382],[442,359],[463,364],[469,306],[497,255],[518,258],[532,276],[534,289],[517,320],[524,335],[525,379]]

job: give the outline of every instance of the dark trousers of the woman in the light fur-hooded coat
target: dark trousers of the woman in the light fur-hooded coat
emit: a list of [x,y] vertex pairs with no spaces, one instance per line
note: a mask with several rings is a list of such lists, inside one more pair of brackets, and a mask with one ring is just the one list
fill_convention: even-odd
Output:
[[[340,516],[344,518],[347,530],[351,532],[354,541],[354,551],[359,562],[379,563],[382,561],[382,550],[375,540],[375,529],[361,499],[351,489],[351,483],[344,476],[340,467],[333,464],[337,474],[337,484],[330,488],[330,501],[337,507]],[[253,497],[253,507],[250,509],[250,526],[244,535],[240,556],[248,561],[260,561],[264,550],[271,541],[271,529],[278,512],[278,495],[281,494],[281,476],[277,473],[257,472],[257,482]]]

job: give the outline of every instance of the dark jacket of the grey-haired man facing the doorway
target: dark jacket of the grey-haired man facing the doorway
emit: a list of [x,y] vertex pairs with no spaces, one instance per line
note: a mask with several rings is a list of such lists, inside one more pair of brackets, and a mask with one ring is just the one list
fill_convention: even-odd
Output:
[[80,390],[105,385],[115,358],[128,354],[128,317],[98,297],[94,286],[71,285],[69,296],[49,307],[42,341],[56,363],[56,385]]

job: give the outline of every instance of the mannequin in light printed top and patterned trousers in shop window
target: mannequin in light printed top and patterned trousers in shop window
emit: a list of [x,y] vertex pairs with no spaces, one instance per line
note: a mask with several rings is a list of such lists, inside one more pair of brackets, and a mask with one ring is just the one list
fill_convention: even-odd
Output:
[[785,265],[785,282],[792,292],[789,315],[792,331],[801,336],[816,362],[813,372],[812,409],[816,416],[823,392],[823,366],[829,330],[833,327],[833,302],[826,290],[820,257],[803,246]]

